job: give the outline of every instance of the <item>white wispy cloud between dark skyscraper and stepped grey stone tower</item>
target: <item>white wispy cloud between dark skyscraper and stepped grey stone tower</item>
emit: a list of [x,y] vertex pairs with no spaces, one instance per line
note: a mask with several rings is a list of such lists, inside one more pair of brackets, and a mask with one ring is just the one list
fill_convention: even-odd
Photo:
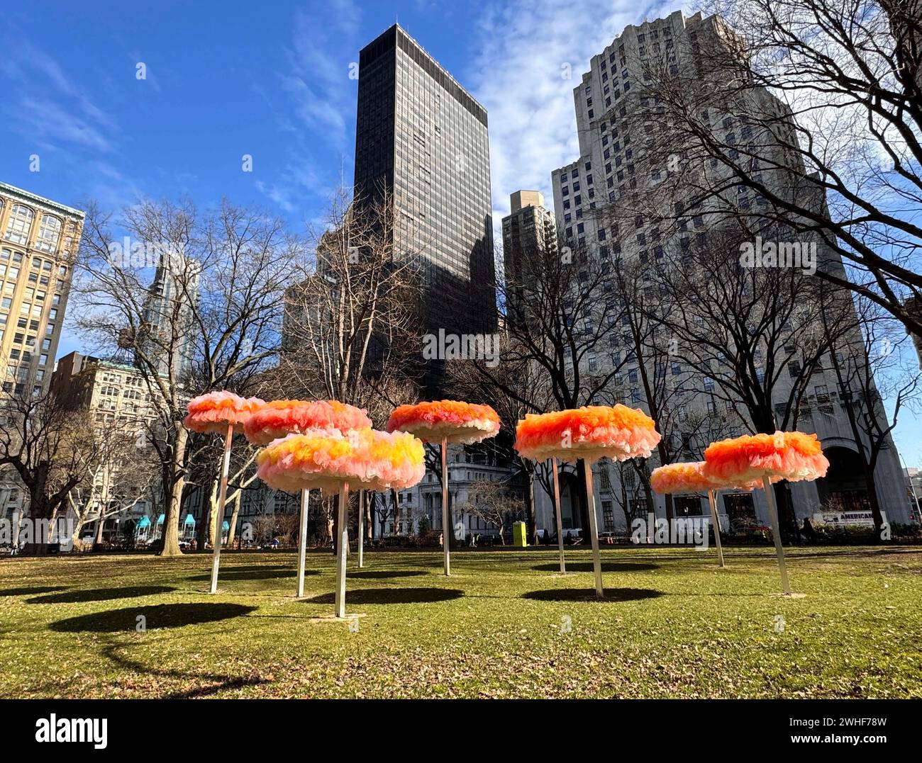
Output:
[[508,214],[509,194],[520,188],[541,191],[551,205],[550,171],[579,155],[573,88],[589,59],[628,24],[683,5],[533,0],[526,12],[505,3],[486,6],[467,79],[490,115],[494,217]]

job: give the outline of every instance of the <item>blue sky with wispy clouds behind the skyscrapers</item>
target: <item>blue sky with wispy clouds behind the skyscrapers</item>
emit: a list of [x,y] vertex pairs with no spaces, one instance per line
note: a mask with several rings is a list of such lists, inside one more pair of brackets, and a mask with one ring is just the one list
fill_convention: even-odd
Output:
[[[303,229],[352,177],[349,65],[398,20],[489,112],[502,217],[518,188],[550,199],[550,171],[576,158],[573,80],[589,57],[626,24],[685,4],[580,5],[579,14],[560,0],[12,5],[0,28],[0,181],[76,206],[143,195],[207,206],[225,195]],[[31,172],[35,154],[41,170]],[[79,347],[65,325],[59,355]],[[910,465],[922,466],[920,430],[922,418],[904,413],[897,441]]]

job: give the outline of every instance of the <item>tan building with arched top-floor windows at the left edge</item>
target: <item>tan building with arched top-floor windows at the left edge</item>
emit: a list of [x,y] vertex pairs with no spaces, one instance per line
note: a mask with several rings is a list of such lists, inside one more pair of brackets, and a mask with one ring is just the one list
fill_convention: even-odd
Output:
[[3,393],[51,380],[84,213],[0,182]]

